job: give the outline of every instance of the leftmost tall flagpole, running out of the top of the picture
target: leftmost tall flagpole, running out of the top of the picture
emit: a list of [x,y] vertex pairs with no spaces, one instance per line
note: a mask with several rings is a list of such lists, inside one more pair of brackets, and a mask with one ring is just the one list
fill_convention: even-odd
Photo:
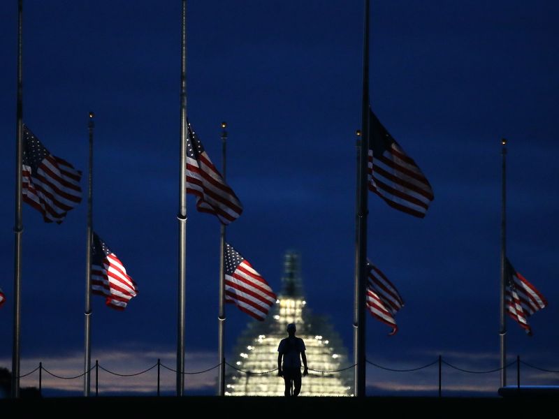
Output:
[[22,83],[23,0],[17,1],[17,104],[15,112],[15,223],[13,276],[12,397],[20,397],[21,277],[22,277],[22,161],[23,161],[23,83]]

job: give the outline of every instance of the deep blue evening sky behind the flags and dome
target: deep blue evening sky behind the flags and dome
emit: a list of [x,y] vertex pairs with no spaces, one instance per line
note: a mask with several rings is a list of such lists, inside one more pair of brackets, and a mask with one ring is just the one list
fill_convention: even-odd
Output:
[[[117,372],[158,357],[175,367],[180,3],[24,1],[24,122],[53,154],[87,171],[87,115],[96,113],[94,229],[140,291],[124,312],[94,297],[92,359]],[[532,338],[508,321],[509,357],[559,369],[559,3],[402,0],[371,8],[372,108],[421,167],[435,201],[421,220],[369,195],[368,256],[406,304],[394,337],[368,316],[368,358],[405,368],[442,353],[463,368],[498,367],[505,137],[509,259],[549,300],[530,318]],[[300,251],[307,307],[330,316],[351,353],[363,2],[189,1],[187,20],[189,120],[218,167],[220,123],[228,122],[228,183],[244,205],[228,242],[276,291],[284,251]],[[17,1],[0,3],[0,23],[0,288],[8,299],[0,366],[10,367]],[[219,222],[194,202],[189,196],[189,371],[218,362]],[[29,205],[23,217],[22,372],[43,360],[59,374],[79,374],[85,200],[59,226]],[[227,308],[233,355],[252,320]],[[187,377],[187,394],[213,394],[215,377]],[[524,377],[558,383],[527,368]],[[102,389],[154,391],[153,380],[123,380]],[[173,390],[173,375],[166,380]],[[494,395],[498,374],[448,371],[445,384]],[[81,385],[48,384],[73,394]],[[368,386],[370,395],[429,394],[436,370],[402,376],[370,367]]]

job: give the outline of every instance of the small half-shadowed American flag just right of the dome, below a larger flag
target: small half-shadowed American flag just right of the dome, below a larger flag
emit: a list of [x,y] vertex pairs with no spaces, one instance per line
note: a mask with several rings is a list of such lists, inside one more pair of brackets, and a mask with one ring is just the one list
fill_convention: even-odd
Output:
[[392,332],[389,335],[395,335],[398,332],[398,325],[394,316],[396,311],[404,307],[404,300],[391,281],[369,260],[367,267],[369,269],[367,309],[377,320],[391,326]]

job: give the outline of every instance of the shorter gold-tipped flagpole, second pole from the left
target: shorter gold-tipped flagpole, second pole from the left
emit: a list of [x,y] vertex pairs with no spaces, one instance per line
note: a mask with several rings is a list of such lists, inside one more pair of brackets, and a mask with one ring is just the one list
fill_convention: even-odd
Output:
[[93,236],[93,128],[95,114],[89,112],[89,175],[87,177],[87,237],[85,239],[85,310],[83,395],[89,397],[92,368],[92,236]]

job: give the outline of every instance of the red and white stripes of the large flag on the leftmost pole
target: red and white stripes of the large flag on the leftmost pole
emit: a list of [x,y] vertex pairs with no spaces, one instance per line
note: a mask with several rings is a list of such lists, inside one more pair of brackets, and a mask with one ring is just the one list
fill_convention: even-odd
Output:
[[22,199],[41,212],[46,222],[61,223],[82,200],[81,177],[70,163],[51,154],[43,159],[35,175],[30,166],[22,166]]

